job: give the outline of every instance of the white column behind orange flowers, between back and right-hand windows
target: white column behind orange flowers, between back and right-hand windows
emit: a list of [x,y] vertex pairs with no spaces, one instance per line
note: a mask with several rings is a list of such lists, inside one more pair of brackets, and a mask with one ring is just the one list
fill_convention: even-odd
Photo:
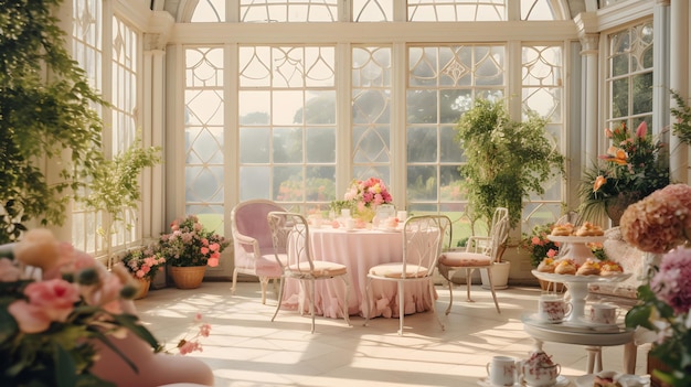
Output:
[[581,55],[585,57],[585,66],[583,74],[583,87],[585,88],[583,95],[585,96],[584,108],[585,119],[583,120],[583,138],[585,139],[584,146],[585,158],[582,160],[582,168],[587,168],[589,163],[597,158],[597,138],[599,133],[599,125],[597,123],[597,107],[598,107],[598,93],[597,93],[597,45],[599,43],[599,34],[588,33],[581,36],[581,45],[583,50]]

